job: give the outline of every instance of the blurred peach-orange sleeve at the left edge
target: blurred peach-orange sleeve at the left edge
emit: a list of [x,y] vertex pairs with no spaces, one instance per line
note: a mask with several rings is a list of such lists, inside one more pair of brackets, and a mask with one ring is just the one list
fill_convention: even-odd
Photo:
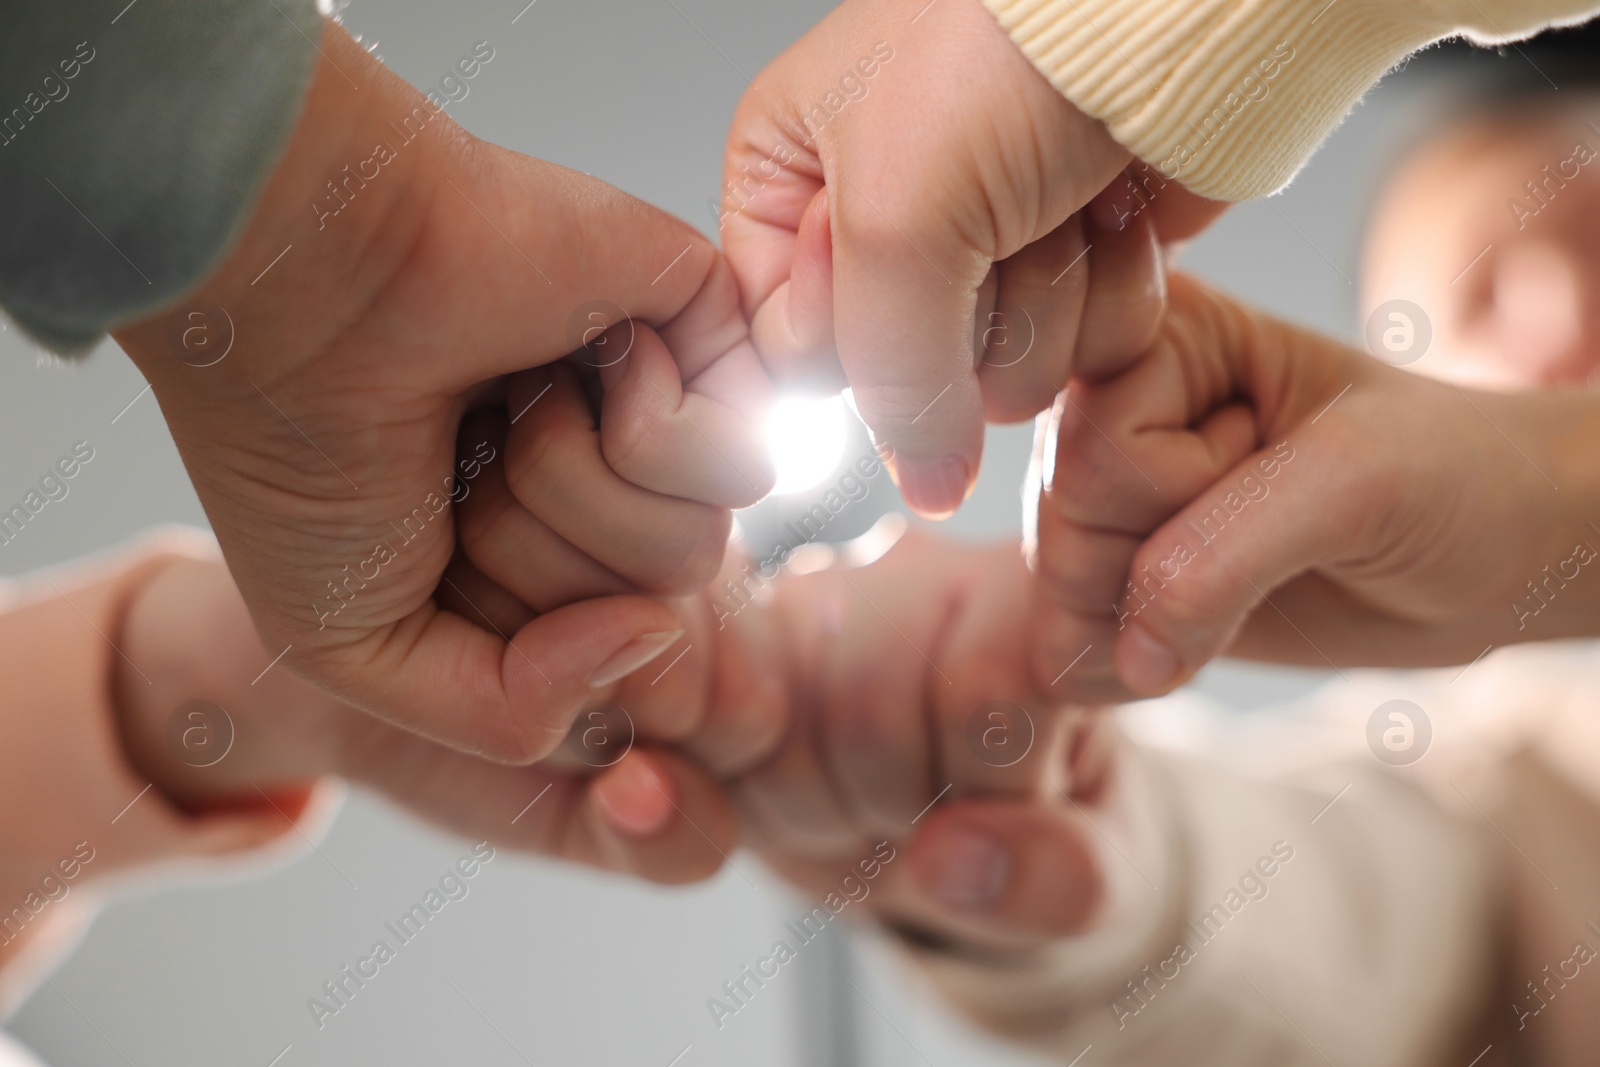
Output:
[[[0,587],[0,1019],[130,881],[206,877],[294,856],[326,827],[331,781],[181,808],[130,763],[112,705],[112,643],[134,592],[176,558],[165,534],[88,566]],[[0,1049],[0,1064],[6,1064]]]

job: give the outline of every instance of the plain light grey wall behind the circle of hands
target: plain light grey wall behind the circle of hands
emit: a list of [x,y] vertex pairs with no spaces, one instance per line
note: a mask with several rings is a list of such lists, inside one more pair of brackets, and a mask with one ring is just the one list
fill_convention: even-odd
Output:
[[[523,2],[355,0],[346,21],[418,85],[488,40],[496,58],[451,109],[456,118],[706,229],[725,123],[746,75],[829,6],[538,0],[512,24]],[[1350,334],[1358,216],[1405,94],[1400,82],[1381,90],[1286,195],[1230,213],[1189,251],[1187,266],[1290,318]],[[142,386],[110,344],[64,366],[14,331],[0,333],[0,499],[19,496],[78,438],[98,453],[69,499],[0,549],[0,571],[67,560],[152,523],[205,522],[150,397],[112,422]],[[1026,427],[992,430],[984,480],[954,530],[1016,534],[1027,448]],[[1205,678],[1240,707],[1312,681],[1237,667]],[[280,1054],[283,1067],[667,1067],[685,1046],[685,1067],[824,1062],[805,1051],[816,1046],[806,1038],[816,1038],[819,1016],[798,979],[774,982],[722,1032],[706,1011],[706,998],[802,910],[749,857],[734,862],[760,889],[723,872],[709,885],[661,891],[502,853],[466,901],[317,1032],[306,998],[466,851],[464,841],[354,795],[323,856],[112,905],[54,974],[59,993],[45,987],[11,1025],[50,1062],[78,1067],[267,1067]],[[872,1001],[858,1016],[859,1062],[1018,1062],[882,969],[858,982]]]

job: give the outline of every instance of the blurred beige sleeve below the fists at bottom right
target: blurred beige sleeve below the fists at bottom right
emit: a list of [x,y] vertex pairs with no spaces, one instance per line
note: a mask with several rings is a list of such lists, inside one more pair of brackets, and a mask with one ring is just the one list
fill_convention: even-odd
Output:
[[907,949],[949,1000],[1061,1064],[1090,1046],[1107,1067],[1454,1062],[1498,929],[1458,819],[1360,768],[1323,792],[1126,755],[1134,773],[1093,814],[1096,926],[1027,957]]

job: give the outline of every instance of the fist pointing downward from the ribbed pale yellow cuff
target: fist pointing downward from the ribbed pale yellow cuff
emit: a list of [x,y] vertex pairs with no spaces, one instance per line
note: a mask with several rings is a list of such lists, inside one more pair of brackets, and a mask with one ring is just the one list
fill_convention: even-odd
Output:
[[723,246],[762,357],[851,386],[906,501],[954,512],[986,411],[1029,418],[1152,336],[1157,222],[1171,238],[1205,213],[1144,168],[1155,211],[1077,216],[1128,158],[979,0],[846,0],[728,134]]

